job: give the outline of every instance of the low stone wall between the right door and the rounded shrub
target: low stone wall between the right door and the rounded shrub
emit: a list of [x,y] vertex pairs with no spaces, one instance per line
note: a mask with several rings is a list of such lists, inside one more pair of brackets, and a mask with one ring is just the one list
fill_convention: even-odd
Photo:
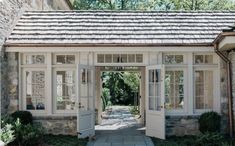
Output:
[[199,116],[166,116],[166,136],[196,135]]

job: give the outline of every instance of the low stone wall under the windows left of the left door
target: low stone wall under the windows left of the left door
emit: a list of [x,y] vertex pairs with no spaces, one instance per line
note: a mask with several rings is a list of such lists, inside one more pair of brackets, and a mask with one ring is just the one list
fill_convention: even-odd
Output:
[[43,125],[46,133],[76,135],[77,134],[77,117],[62,117],[62,116],[46,116],[34,117],[34,122],[39,122]]

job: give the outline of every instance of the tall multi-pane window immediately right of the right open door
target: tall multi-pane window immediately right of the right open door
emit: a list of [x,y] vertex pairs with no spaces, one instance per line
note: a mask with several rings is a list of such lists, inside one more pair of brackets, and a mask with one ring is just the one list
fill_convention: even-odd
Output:
[[165,73],[166,109],[184,108],[184,72],[182,70]]

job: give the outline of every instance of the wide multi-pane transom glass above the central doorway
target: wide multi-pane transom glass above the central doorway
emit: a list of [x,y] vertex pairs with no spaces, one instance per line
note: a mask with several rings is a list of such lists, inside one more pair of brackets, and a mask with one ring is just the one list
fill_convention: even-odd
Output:
[[143,54],[97,54],[98,63],[143,63]]

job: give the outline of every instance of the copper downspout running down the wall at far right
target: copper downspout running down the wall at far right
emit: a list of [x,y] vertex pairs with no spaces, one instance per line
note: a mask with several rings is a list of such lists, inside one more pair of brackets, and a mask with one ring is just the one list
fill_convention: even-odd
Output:
[[228,115],[229,115],[229,135],[233,137],[233,105],[232,105],[232,72],[231,72],[231,61],[228,57],[226,57],[222,52],[219,51],[218,45],[214,45],[215,53],[226,62],[227,68],[227,93],[228,93]]

